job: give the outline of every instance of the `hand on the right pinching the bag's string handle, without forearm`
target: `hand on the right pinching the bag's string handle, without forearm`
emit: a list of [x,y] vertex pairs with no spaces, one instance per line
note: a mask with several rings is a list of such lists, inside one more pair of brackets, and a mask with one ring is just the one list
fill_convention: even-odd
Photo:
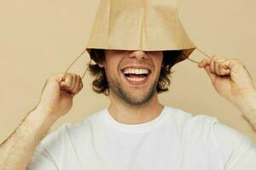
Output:
[[246,67],[239,59],[213,56],[212,59],[202,59],[198,67],[207,71],[218,94],[232,103],[236,97],[256,91]]

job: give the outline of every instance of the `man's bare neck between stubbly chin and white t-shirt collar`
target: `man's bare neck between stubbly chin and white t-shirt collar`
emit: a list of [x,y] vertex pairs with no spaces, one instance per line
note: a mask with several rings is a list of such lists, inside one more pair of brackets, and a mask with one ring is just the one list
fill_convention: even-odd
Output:
[[117,122],[124,124],[139,124],[150,122],[155,117],[159,116],[164,106],[160,105],[157,94],[155,93],[152,99],[145,105],[132,106],[124,104],[119,99],[114,98],[110,94],[111,103],[108,107],[109,114]]

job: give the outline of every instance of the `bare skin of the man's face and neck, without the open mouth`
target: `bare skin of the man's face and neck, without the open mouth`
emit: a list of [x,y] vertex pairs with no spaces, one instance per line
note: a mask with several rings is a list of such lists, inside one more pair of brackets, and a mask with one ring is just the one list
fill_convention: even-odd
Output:
[[[163,60],[162,52],[120,51],[106,50],[105,62],[100,66],[105,68],[109,83],[110,105],[108,111],[118,122],[137,124],[149,122],[160,114],[163,105],[160,105],[156,93],[156,85],[160,76],[160,67]],[[143,87],[134,87],[128,84],[121,74],[124,67],[143,66],[151,70],[148,82]],[[123,95],[118,86],[122,87]],[[129,95],[131,101],[125,101]],[[143,101],[143,102],[142,102]]]

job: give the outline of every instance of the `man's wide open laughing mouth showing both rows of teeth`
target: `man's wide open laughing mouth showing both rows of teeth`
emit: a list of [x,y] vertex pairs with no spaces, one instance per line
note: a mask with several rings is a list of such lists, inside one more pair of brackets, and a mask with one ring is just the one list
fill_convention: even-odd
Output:
[[143,84],[147,82],[151,73],[148,69],[140,68],[125,68],[122,70],[125,79],[131,84]]

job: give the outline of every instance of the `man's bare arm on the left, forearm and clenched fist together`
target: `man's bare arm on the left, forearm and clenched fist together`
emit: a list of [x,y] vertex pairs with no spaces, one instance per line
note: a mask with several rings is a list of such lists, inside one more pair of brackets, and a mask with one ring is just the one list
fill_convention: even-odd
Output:
[[0,145],[0,169],[24,170],[49,127],[71,109],[73,97],[83,88],[81,78],[68,74],[49,78],[38,107],[26,116],[9,139]]

